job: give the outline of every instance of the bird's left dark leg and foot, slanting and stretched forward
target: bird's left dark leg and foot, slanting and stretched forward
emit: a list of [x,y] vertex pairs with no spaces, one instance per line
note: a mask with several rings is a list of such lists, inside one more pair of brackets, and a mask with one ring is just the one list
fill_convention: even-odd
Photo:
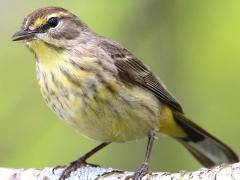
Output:
[[93,154],[95,154],[96,152],[98,152],[99,150],[101,150],[102,148],[107,146],[108,144],[110,144],[110,143],[108,143],[108,142],[101,143],[100,145],[98,145],[97,147],[93,148],[91,151],[89,151],[88,153],[84,154],[82,157],[80,157],[76,161],[73,161],[73,162],[69,163],[66,166],[56,166],[55,168],[53,168],[53,173],[54,173],[54,170],[56,170],[57,168],[63,167],[64,170],[63,170],[59,180],[64,180],[67,177],[69,177],[71,172],[75,171],[77,168],[79,168],[82,165],[89,164],[91,166],[97,166],[97,165],[94,165],[94,164],[87,163],[86,160],[88,158],[90,158]]

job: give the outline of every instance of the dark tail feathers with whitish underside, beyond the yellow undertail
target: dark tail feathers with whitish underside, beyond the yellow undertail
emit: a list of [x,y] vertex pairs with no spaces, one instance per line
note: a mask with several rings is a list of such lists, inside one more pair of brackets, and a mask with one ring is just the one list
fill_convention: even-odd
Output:
[[205,167],[239,161],[236,153],[220,140],[188,120],[183,114],[173,112],[174,120],[187,134],[177,138],[181,144]]

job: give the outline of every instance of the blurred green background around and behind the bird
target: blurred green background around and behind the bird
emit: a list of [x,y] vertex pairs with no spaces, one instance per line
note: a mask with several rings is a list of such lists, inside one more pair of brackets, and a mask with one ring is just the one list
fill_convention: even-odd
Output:
[[[23,18],[62,6],[99,34],[121,42],[151,67],[195,122],[240,153],[240,1],[238,0],[0,0],[0,166],[66,164],[98,144],[48,109],[35,78],[34,58],[11,42]],[[112,144],[91,162],[135,170],[146,139]],[[174,140],[159,135],[151,170],[200,165]]]

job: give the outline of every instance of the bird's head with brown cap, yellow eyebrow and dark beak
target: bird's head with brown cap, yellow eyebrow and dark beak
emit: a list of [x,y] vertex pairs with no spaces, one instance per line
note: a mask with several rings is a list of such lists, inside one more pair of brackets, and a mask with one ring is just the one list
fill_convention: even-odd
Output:
[[45,7],[29,14],[13,41],[24,40],[34,50],[39,43],[50,47],[66,48],[75,44],[87,26],[68,10]]

